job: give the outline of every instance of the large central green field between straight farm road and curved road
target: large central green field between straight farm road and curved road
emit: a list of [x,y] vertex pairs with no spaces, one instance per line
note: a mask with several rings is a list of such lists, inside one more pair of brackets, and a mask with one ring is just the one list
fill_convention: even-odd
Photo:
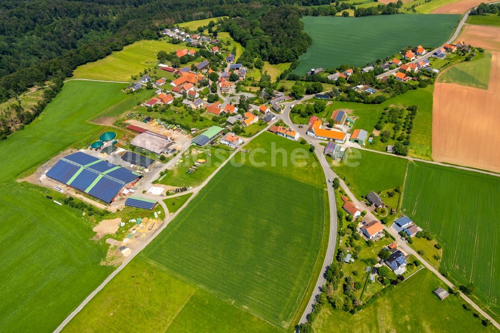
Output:
[[[317,185],[321,174],[318,165],[312,166],[315,159],[300,159],[307,161],[302,167],[289,162],[293,149],[303,149],[299,143],[270,133],[254,141],[250,152],[235,161],[248,159],[224,166],[140,256],[288,328],[308,297],[305,291],[320,257],[324,185]],[[273,146],[281,149],[278,158],[272,157]],[[284,161],[282,153],[288,156]],[[252,208],[263,198],[265,204]]]

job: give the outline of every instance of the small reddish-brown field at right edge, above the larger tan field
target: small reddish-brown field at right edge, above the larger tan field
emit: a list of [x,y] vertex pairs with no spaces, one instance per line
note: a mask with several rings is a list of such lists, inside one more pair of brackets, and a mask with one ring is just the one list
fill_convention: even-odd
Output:
[[500,27],[485,25],[465,25],[456,40],[467,44],[500,52]]

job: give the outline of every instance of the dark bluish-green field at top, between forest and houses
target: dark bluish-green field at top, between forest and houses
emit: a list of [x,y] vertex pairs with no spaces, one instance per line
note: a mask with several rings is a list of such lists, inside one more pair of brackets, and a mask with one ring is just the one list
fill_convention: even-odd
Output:
[[459,17],[448,14],[305,16],[302,18],[304,30],[311,36],[312,44],[300,55],[300,63],[293,72],[304,74],[310,68],[341,64],[359,66],[390,56],[406,46],[435,47],[449,38]]

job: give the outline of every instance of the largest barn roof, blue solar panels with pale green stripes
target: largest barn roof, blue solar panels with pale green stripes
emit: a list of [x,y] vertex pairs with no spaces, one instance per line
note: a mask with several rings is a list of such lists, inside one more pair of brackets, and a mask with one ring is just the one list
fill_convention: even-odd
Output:
[[108,203],[141,177],[139,173],[81,151],[62,157],[45,175]]

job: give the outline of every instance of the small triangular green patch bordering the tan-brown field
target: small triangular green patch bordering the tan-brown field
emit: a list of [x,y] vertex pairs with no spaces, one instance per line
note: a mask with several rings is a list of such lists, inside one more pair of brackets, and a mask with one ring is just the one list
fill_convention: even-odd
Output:
[[460,62],[449,67],[439,75],[439,82],[458,83],[474,88],[487,89],[491,69],[491,53],[479,53],[481,56],[467,62]]

